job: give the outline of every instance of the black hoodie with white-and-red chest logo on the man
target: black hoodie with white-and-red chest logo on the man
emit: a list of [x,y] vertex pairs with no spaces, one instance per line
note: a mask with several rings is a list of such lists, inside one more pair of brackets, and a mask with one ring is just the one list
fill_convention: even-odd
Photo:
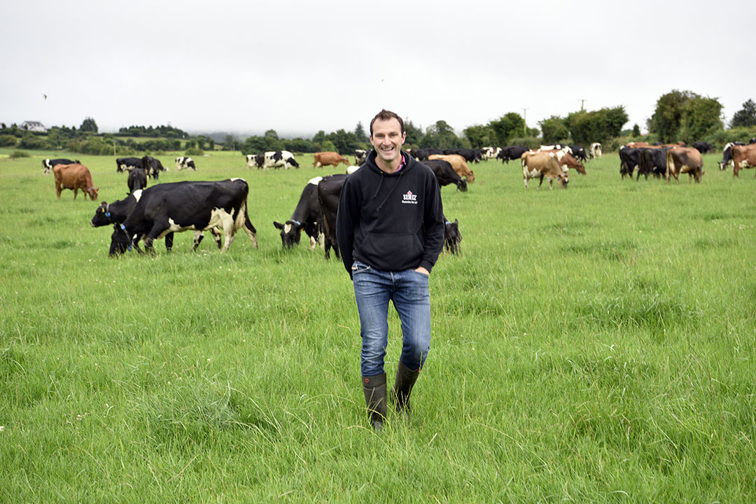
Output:
[[431,271],[444,246],[441,191],[431,169],[407,153],[405,165],[383,172],[371,150],[346,178],[339,198],[336,240],[344,267],[361,261],[381,271]]

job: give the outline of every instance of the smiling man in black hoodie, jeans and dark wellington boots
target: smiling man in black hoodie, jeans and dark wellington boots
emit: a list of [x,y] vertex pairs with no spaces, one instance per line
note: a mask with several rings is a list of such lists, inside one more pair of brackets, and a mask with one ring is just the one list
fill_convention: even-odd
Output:
[[373,118],[373,150],[346,179],[336,217],[336,240],[360,315],[362,388],[376,431],[386,417],[389,300],[402,332],[391,396],[396,410],[408,416],[410,392],[430,348],[429,275],[444,246],[438,181],[426,165],[401,152],[405,137],[395,113],[381,110]]

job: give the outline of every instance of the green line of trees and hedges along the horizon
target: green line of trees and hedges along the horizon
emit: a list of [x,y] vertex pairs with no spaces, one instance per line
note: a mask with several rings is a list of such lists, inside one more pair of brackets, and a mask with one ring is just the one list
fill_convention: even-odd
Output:
[[[623,129],[627,113],[623,106],[600,110],[578,110],[567,116],[550,116],[538,122],[539,128],[528,128],[519,113],[509,112],[487,124],[471,125],[457,135],[445,120],[438,120],[426,128],[415,125],[411,119],[404,122],[407,133],[406,148],[440,147],[480,148],[505,145],[538,147],[539,144],[606,144],[609,150],[630,140],[708,141],[723,147],[728,141],[748,141],[756,136],[756,104],[748,100],[742,104],[726,129],[722,117],[722,104],[717,98],[704,97],[692,91],[674,89],[658,98],[651,118],[646,122],[648,133],[641,135],[639,125]],[[128,137],[128,138],[126,138]],[[135,138],[145,137],[144,141]],[[354,130],[339,129],[326,133],[318,131],[312,138],[280,138],[274,129],[263,135],[253,135],[244,141],[225,135],[217,142],[222,150],[240,150],[244,154],[271,150],[289,150],[296,153],[336,151],[342,154],[357,149],[369,149],[370,139],[362,122]],[[216,141],[210,136],[188,135],[172,126],[132,125],[119,128],[117,133],[98,134],[95,119],[86,117],[82,124],[68,128],[53,126],[46,134],[25,131],[17,125],[0,124],[0,147],[19,147],[27,150],[70,150],[89,154],[132,154],[187,150],[197,155],[203,150],[215,150]]]

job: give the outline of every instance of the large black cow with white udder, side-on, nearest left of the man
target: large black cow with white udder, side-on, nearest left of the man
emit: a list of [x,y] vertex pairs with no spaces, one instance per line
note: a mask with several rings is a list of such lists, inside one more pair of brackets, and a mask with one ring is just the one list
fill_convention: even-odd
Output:
[[155,253],[153,241],[169,233],[184,230],[212,230],[222,227],[228,250],[238,230],[243,229],[257,248],[257,231],[246,213],[249,186],[243,178],[215,182],[173,182],[157,184],[143,190],[132,212],[123,221],[122,231],[114,233],[111,249],[133,245],[138,252],[139,240]]

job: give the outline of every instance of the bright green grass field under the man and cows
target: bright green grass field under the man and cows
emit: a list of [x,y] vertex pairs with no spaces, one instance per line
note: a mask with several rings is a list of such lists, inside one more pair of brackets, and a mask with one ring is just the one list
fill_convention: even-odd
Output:
[[[315,175],[196,159],[160,182],[243,177],[259,249],[191,233],[107,257],[98,202],[58,201],[45,157],[0,150],[0,502],[756,502],[756,180],[568,190],[518,164],[442,188],[461,253],[431,277],[431,351],[409,422],[367,427],[340,261],[283,251]],[[401,338],[391,314],[387,368]]]

